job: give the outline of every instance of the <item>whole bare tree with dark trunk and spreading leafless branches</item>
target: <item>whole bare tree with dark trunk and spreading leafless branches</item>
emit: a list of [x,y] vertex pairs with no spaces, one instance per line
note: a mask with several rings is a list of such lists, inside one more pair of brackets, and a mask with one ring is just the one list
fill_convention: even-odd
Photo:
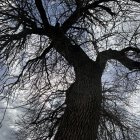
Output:
[[[30,90],[19,139],[137,139],[124,104],[139,82],[139,6],[137,0],[1,0],[1,92],[9,101],[15,91]],[[103,84],[108,62],[130,81]]]

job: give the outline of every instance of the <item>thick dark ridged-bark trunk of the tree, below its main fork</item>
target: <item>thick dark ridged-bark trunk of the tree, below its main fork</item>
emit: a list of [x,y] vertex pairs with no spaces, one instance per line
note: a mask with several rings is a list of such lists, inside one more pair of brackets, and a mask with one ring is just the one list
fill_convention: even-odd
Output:
[[95,64],[76,70],[55,140],[96,140],[102,102],[101,74]]

